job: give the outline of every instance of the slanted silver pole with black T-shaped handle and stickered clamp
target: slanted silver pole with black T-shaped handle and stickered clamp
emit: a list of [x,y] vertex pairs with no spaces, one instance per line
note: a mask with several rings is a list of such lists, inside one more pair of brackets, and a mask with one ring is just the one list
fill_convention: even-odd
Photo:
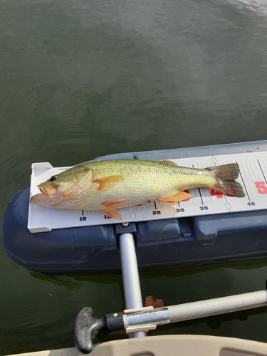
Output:
[[[124,255],[124,258],[127,258],[127,254],[124,253]],[[128,284],[126,283],[125,290],[127,290],[127,286]],[[129,288],[132,288],[132,286],[132,283],[130,283]],[[130,290],[127,290],[127,292],[130,292]],[[132,290],[132,293],[135,294],[135,290]],[[131,303],[133,302],[134,300],[131,301]],[[147,307],[133,311],[127,310],[126,313],[111,313],[100,319],[94,318],[93,310],[86,307],[80,310],[80,313],[77,315],[73,327],[73,335],[78,350],[84,354],[88,354],[93,350],[93,339],[101,333],[119,335],[126,332],[129,336],[132,335],[131,337],[140,337],[146,335],[143,330],[155,330],[157,325],[204,318],[265,305],[267,305],[267,290],[162,308],[150,309],[150,307]],[[142,355],[147,355],[147,353]]]

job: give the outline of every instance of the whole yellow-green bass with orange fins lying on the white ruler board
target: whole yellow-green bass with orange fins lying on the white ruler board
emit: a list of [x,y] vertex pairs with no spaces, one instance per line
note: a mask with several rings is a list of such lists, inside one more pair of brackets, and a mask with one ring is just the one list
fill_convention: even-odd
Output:
[[122,220],[117,209],[155,200],[182,201],[192,197],[188,190],[194,188],[245,197],[238,177],[237,163],[200,169],[168,160],[108,159],[78,164],[53,175],[38,185],[41,193],[30,201],[48,208],[102,210],[110,218]]

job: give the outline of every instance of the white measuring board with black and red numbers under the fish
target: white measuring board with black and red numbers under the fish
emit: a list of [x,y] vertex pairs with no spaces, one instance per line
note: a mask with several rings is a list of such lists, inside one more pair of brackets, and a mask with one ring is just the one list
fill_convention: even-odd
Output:
[[[267,152],[250,152],[233,155],[189,157],[169,159],[179,166],[205,168],[236,162],[240,175],[237,179],[244,187],[246,197],[236,198],[214,190],[190,189],[189,199],[168,203],[151,201],[141,206],[119,209],[122,220],[110,219],[100,210],[50,209],[29,204],[28,229],[31,232],[51,231],[78,226],[118,224],[132,221],[170,219],[186,216],[222,214],[236,211],[267,209]],[[70,167],[52,167],[51,164],[33,163],[31,174],[31,197],[39,193],[37,185]]]

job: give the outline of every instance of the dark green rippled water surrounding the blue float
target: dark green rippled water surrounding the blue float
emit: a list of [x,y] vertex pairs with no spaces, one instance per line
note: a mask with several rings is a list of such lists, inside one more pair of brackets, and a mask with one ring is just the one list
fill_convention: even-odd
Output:
[[[1,219],[32,162],[266,140],[267,3],[0,0]],[[124,307],[121,276],[46,277],[0,244],[0,354],[73,345],[78,311]],[[167,305],[265,287],[266,260],[141,273]],[[266,308],[158,327],[267,342]],[[98,340],[108,340],[99,337]]]

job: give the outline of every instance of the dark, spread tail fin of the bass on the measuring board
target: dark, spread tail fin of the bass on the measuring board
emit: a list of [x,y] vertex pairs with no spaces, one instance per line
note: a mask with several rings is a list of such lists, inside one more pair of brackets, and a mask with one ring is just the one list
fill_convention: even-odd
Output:
[[210,187],[211,189],[216,190],[216,192],[232,195],[233,197],[245,197],[246,194],[243,187],[239,182],[235,182],[239,177],[239,166],[237,163],[207,167],[206,170],[209,170],[216,180],[213,187]]

